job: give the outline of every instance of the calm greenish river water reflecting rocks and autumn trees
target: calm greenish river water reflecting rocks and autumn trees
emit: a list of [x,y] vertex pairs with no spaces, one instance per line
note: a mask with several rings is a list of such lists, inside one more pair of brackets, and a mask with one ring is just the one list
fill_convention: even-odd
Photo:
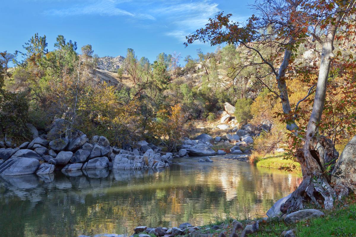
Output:
[[1,237],[124,234],[140,225],[201,226],[226,214],[264,216],[301,182],[294,173],[210,157],[161,170],[87,170],[0,177]]

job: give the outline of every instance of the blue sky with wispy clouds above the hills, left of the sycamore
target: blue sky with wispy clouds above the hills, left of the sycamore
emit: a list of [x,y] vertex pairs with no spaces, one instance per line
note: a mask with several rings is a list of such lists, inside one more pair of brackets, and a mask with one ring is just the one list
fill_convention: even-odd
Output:
[[[0,51],[13,53],[36,32],[47,36],[48,49],[58,34],[80,47],[91,44],[102,56],[125,56],[133,48],[140,58],[176,51],[184,58],[196,49],[213,52],[209,44],[194,43],[184,48],[185,35],[203,27],[209,17],[224,11],[232,20],[245,21],[251,0],[1,0]],[[181,62],[183,64],[183,59]]]

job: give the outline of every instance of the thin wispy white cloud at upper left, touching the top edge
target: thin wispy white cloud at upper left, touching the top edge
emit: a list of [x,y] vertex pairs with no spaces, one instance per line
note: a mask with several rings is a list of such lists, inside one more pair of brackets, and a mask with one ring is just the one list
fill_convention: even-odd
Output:
[[[58,0],[57,0],[58,1]],[[101,15],[101,16],[131,16],[138,19],[155,20],[149,14],[130,12],[119,7],[126,1],[119,0],[89,0],[82,4],[75,4],[64,9],[51,9],[45,12],[47,15],[72,16],[72,15]]]

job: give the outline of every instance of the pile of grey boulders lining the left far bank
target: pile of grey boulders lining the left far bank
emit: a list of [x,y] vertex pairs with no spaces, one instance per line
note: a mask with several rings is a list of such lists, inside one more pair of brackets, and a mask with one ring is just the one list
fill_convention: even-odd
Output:
[[[51,131],[48,134],[51,135]],[[111,147],[104,136],[93,136],[89,140],[80,132],[72,139],[51,140],[48,134],[16,148],[0,149],[0,174],[14,176],[50,174],[55,170],[164,168],[169,167],[173,160],[172,153],[161,153],[159,147],[146,141],[138,142],[138,148],[127,151]]]

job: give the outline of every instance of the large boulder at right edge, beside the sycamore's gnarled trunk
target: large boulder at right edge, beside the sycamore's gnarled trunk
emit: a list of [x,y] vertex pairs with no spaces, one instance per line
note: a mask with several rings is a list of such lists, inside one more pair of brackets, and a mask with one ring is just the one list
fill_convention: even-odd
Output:
[[356,135],[337,159],[331,182],[350,187],[356,193]]

